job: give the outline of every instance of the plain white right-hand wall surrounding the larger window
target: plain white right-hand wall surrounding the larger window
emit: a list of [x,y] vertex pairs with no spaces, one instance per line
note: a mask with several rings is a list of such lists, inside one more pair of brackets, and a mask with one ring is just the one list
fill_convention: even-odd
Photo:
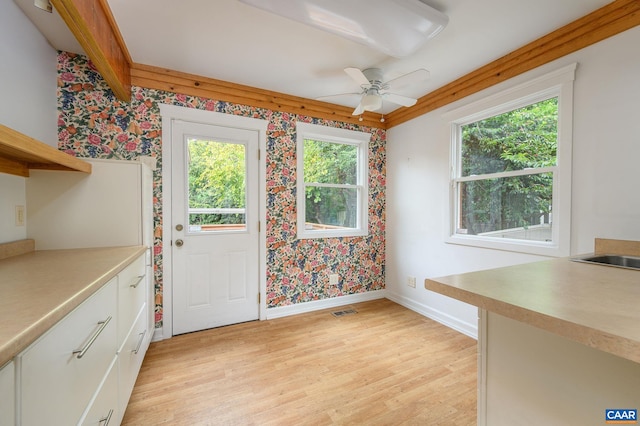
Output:
[[[640,240],[639,45],[636,27],[388,131],[389,298],[476,335],[476,308],[425,290],[424,279],[545,259],[444,242],[449,124],[442,114],[573,62],[571,253],[592,252],[596,237]],[[418,278],[415,289],[407,276]]]

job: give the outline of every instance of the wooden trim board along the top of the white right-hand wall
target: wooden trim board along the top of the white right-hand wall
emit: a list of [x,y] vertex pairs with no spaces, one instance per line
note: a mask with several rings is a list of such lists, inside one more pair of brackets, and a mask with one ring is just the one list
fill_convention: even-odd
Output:
[[640,1],[616,0],[386,116],[392,128],[640,24]]

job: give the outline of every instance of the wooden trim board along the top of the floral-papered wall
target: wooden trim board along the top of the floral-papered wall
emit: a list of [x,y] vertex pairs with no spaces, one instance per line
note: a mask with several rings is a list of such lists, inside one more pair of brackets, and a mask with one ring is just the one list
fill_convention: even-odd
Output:
[[273,111],[307,115],[345,123],[386,128],[380,114],[365,113],[362,121],[353,116],[353,108],[244,86],[150,65],[131,64],[131,84],[190,96],[233,102]]

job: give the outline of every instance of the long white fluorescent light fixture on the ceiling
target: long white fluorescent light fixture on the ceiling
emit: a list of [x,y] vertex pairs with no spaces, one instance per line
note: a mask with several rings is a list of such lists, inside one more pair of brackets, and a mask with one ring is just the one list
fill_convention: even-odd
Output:
[[422,0],[240,0],[402,58],[449,22]]

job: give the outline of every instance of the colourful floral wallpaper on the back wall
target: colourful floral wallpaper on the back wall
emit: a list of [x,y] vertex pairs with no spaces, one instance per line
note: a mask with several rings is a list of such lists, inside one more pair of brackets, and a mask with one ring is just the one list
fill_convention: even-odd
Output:
[[[160,103],[261,118],[267,129],[267,307],[384,288],[386,132],[383,129],[271,111],[214,99],[132,87],[118,100],[91,62],[58,55],[59,149],[83,158],[132,160],[152,156],[154,173],[156,326],[162,325],[162,124]],[[296,122],[371,133],[369,235],[296,239]],[[339,274],[338,285],[329,274]]]

